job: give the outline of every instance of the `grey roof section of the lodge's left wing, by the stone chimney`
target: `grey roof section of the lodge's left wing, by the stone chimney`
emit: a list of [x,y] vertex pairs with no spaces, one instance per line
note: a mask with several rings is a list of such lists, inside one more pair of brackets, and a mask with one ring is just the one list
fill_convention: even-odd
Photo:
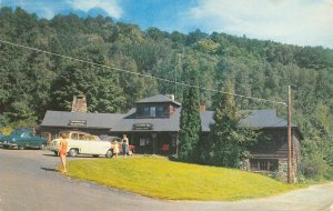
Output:
[[[87,125],[83,128],[104,128],[111,129],[115,122],[122,119],[124,114],[117,113],[83,113],[69,111],[47,111],[41,127],[68,127],[70,121],[85,120]],[[80,128],[74,125],[74,128]]]

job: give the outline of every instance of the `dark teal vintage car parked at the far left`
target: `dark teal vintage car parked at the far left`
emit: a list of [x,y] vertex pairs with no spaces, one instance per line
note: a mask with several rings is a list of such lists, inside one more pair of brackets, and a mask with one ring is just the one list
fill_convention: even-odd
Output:
[[23,150],[26,148],[44,149],[47,140],[37,137],[32,129],[16,129],[9,135],[1,138],[3,148],[18,148]]

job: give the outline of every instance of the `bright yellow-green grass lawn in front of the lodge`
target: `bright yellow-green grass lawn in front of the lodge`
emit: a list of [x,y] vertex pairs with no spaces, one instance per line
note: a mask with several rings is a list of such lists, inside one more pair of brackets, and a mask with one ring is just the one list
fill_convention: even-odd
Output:
[[68,170],[72,178],[173,200],[231,201],[301,188],[255,173],[157,157],[74,160],[68,163]]

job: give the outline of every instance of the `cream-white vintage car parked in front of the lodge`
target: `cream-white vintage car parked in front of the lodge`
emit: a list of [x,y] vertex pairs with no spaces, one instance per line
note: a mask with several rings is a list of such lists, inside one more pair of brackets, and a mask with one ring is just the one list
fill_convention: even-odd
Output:
[[[111,143],[108,141],[101,141],[99,137],[80,131],[61,131],[61,133],[69,133],[68,139],[68,155],[75,157],[78,154],[91,154],[93,157],[105,155],[110,158],[112,155]],[[60,148],[60,140],[54,139],[49,144],[49,150],[53,151],[58,155]]]

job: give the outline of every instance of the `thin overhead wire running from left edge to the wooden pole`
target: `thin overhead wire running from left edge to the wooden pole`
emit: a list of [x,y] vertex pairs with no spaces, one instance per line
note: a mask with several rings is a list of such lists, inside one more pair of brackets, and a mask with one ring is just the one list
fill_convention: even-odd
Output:
[[173,80],[169,80],[169,79],[153,77],[153,76],[150,76],[150,74],[143,74],[143,73],[139,73],[139,72],[132,72],[130,70],[123,70],[123,69],[115,68],[115,67],[94,63],[94,62],[91,62],[91,61],[87,61],[87,60],[82,60],[82,59],[78,59],[78,58],[73,58],[73,57],[69,57],[69,56],[63,56],[63,54],[59,54],[59,53],[53,53],[53,52],[50,52],[50,51],[40,50],[40,49],[37,49],[37,48],[27,47],[27,46],[13,43],[13,42],[4,41],[4,40],[0,40],[0,42],[2,42],[4,44],[10,44],[10,46],[13,46],[13,47],[19,47],[19,48],[24,48],[24,49],[28,49],[28,50],[41,52],[41,53],[47,53],[47,54],[50,54],[50,56],[56,56],[56,57],[60,57],[60,58],[64,58],[64,59],[70,59],[70,60],[73,60],[73,61],[79,61],[79,62],[82,62],[82,63],[88,63],[88,64],[91,64],[91,66],[98,66],[98,67],[101,67],[101,68],[112,69],[112,70],[117,70],[117,71],[120,71],[120,72],[125,72],[125,73],[135,74],[135,76],[140,76],[140,77],[145,77],[145,78],[150,78],[150,79],[155,79],[155,80],[159,80],[159,81],[175,83],[175,84],[188,87],[188,88],[198,88],[198,89],[203,90],[203,91],[211,91],[211,92],[218,92],[218,93],[223,93],[223,94],[231,94],[231,96],[239,97],[239,98],[245,98],[245,99],[250,99],[250,100],[258,100],[258,101],[272,102],[272,103],[276,103],[276,104],[286,105],[285,102],[279,102],[279,101],[274,101],[274,100],[254,98],[254,97],[242,96],[242,94],[236,94],[236,93],[230,93],[230,92],[224,92],[224,91],[220,91],[220,90],[215,90],[215,89],[209,89],[209,88],[200,87],[200,86],[192,86],[192,84],[178,82],[178,81],[173,81]]

